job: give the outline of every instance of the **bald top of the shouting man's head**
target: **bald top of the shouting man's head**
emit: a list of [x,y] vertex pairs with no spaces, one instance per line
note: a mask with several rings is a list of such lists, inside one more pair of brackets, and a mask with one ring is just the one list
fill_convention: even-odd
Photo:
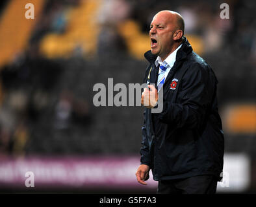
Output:
[[164,18],[166,18],[167,21],[170,21],[170,23],[175,25],[177,30],[182,30],[183,35],[184,35],[185,23],[184,23],[184,19],[181,16],[181,14],[179,14],[177,12],[170,11],[170,10],[162,10],[162,11],[158,12],[153,17],[153,19],[156,16],[163,16]]

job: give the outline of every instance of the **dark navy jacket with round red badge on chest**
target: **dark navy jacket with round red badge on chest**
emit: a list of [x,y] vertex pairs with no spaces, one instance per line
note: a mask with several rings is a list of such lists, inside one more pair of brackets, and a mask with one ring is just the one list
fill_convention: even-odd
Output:
[[[144,82],[157,83],[157,56],[145,53],[150,65]],[[218,114],[218,80],[211,67],[193,52],[184,37],[176,61],[161,90],[161,113],[144,111],[141,164],[147,164],[154,180],[214,175],[223,169],[224,134]]]

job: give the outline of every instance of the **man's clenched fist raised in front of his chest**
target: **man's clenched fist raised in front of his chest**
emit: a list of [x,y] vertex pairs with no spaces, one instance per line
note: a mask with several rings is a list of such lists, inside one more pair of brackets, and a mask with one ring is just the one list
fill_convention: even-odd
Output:
[[159,98],[159,95],[157,93],[157,89],[153,85],[147,85],[149,89],[144,88],[144,91],[142,93],[142,99],[141,103],[145,107],[151,109],[155,107],[157,104],[157,100]]

